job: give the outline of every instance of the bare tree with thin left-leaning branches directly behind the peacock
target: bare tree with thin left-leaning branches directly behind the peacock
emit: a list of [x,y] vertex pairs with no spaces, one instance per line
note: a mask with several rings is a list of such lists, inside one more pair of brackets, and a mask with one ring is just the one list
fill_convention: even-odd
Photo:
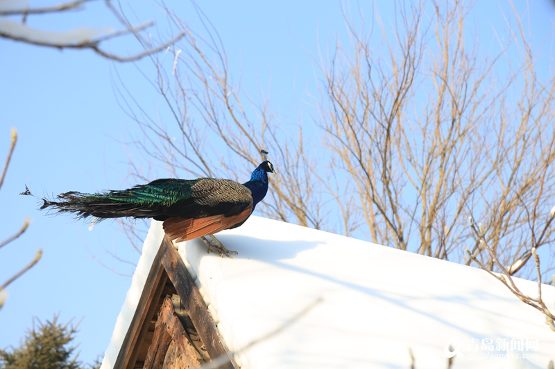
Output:
[[[160,122],[133,99],[121,82],[120,104],[141,129],[135,138],[151,165],[174,177],[227,177],[248,181],[261,149],[270,152],[278,175],[257,211],[272,219],[321,228],[324,215],[314,172],[316,162],[307,150],[301,125],[275,117],[268,100],[255,100],[241,91],[228,69],[227,55],[215,28],[198,9],[204,25],[196,33],[167,10],[173,26],[185,37],[167,55],[150,55],[157,72],[153,87],[164,101],[171,122]],[[160,108],[162,109],[162,108]],[[280,170],[282,168],[282,170]],[[146,181],[144,168],[132,164],[135,178]]]

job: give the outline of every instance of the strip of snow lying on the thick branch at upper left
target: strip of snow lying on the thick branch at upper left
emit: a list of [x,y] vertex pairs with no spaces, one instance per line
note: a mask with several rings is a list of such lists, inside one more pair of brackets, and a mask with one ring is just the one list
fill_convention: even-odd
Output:
[[67,31],[47,31],[32,28],[21,22],[0,18],[0,33],[14,39],[51,46],[80,45],[92,41],[94,37],[110,33],[111,28],[77,27]]

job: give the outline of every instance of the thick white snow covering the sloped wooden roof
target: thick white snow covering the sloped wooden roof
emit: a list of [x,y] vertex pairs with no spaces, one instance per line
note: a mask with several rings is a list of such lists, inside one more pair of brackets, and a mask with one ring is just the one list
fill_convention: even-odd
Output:
[[[162,235],[153,222],[103,369],[117,358],[144,285],[136,280]],[[207,254],[200,240],[179,253],[241,368],[409,368],[409,349],[416,368],[447,368],[454,350],[457,369],[555,359],[543,314],[479,269],[260,217],[218,238],[239,255]],[[536,283],[515,281],[536,296]],[[552,305],[554,287],[543,298]]]

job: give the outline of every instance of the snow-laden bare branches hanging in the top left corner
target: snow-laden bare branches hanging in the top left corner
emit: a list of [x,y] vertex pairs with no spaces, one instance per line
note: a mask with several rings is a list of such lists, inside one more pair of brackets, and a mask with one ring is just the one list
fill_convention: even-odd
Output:
[[[64,32],[40,30],[32,28],[26,24],[29,15],[48,15],[53,13],[69,12],[72,10],[80,10],[92,0],[74,0],[67,3],[59,3],[54,6],[30,7],[26,0],[0,1],[0,37],[12,39],[27,44],[38,46],[47,46],[58,49],[63,48],[89,48],[95,53],[116,62],[133,62],[139,60],[146,55],[157,53],[164,48],[171,46],[183,36],[178,33],[175,37],[163,42],[158,46],[151,45],[147,37],[142,37],[141,31],[153,25],[152,21],[144,24],[133,26],[121,12],[112,5],[110,0],[104,0],[106,8],[112,12],[112,15],[125,27],[123,30],[112,31],[109,29],[98,29],[91,27],[79,27]],[[21,16],[21,21],[9,19],[10,16]],[[145,50],[142,53],[130,55],[127,57],[109,53],[100,47],[101,42],[120,37],[122,35],[135,35],[137,40],[142,44]]]

